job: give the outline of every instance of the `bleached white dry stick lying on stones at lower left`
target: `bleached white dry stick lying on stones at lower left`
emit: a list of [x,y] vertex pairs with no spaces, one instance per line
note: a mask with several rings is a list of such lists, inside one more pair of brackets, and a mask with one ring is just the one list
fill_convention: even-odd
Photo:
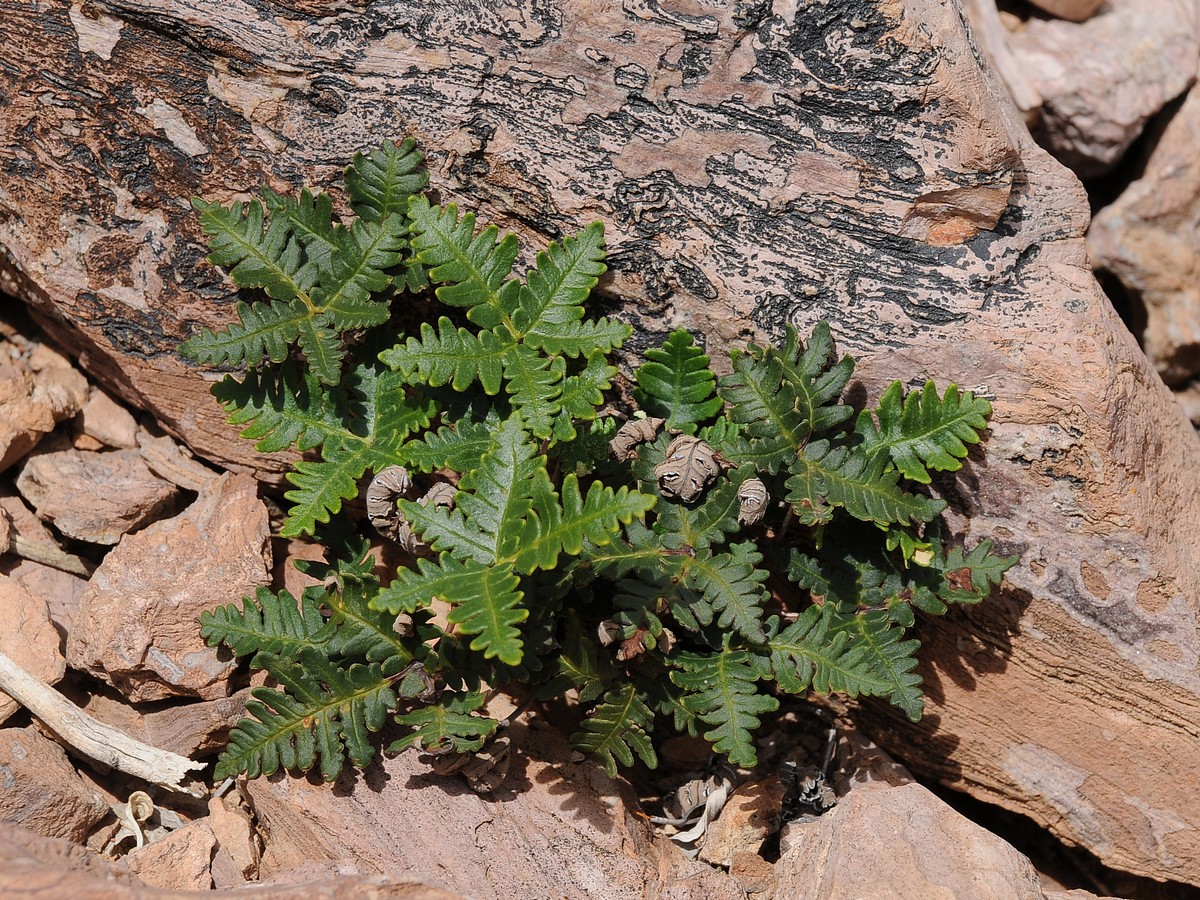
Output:
[[203,786],[193,782],[188,774],[203,769],[203,763],[150,746],[110,725],[96,721],[2,653],[0,690],[41,719],[79,756],[170,791],[203,796]]

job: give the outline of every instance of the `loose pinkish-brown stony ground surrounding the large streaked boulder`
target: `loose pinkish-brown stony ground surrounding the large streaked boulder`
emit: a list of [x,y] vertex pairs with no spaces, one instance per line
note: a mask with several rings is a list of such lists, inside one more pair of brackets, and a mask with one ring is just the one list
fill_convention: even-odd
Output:
[[[1087,185],[1093,266],[1200,424],[1195,4],[964,6],[1042,145]],[[706,748],[682,740],[664,746],[654,778],[612,780],[564,745],[563,710],[535,708],[514,726],[517,762],[490,797],[415,755],[334,786],[214,785],[212,756],[252,678],[204,646],[197,617],[258,586],[298,590],[288,560],[313,548],[272,539],[270,490],[211,468],[118,403],[23,308],[0,298],[0,654],[5,678],[25,673],[42,692],[0,694],[0,894],[1196,895],[1105,870],[1019,816],[935,794],[839,706],[787,710],[752,773],[714,772]],[[166,757],[140,776],[110,754],[89,757],[72,724],[95,726],[55,696],[115,728],[109,749],[136,755],[134,739],[196,761],[191,780],[168,774]],[[816,779],[805,806],[792,775],[820,768],[830,727],[827,784]],[[173,779],[181,790],[166,786]],[[650,821],[680,792],[715,798],[691,840]]]

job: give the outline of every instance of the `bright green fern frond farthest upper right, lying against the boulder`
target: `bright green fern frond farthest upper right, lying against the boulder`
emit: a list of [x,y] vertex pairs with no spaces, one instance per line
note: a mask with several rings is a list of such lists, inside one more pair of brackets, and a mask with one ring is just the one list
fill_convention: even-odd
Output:
[[967,455],[967,444],[978,444],[988,427],[991,403],[971,391],[959,394],[958,385],[937,396],[932,382],[907,396],[900,382],[893,382],[876,409],[878,426],[870,413],[858,416],[857,432],[870,457],[886,454],[900,473],[922,485],[930,481],[929,469],[956,472]]

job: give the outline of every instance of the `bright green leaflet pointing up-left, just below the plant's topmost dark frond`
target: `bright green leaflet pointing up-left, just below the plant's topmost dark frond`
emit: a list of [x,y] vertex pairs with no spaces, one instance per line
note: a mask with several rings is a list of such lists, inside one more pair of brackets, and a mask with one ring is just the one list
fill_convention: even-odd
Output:
[[430,268],[430,280],[442,282],[437,298],[446,306],[466,306],[467,318],[480,328],[504,324],[514,336],[510,316],[517,305],[521,283],[511,277],[517,257],[516,235],[487,226],[475,234],[475,214],[450,203],[434,206],[424,196],[408,204],[413,248]]

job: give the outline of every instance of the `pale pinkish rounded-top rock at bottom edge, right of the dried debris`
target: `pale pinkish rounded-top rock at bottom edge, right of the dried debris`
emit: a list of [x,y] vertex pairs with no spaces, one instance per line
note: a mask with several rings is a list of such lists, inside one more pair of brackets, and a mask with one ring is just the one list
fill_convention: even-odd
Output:
[[917,782],[856,786],[775,864],[776,896],[1043,900],[1033,864]]

